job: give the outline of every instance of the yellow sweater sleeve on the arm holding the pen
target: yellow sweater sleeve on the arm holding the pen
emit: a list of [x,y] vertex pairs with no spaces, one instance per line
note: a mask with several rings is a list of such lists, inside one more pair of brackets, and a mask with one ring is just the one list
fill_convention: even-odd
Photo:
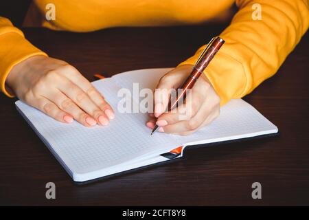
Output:
[[[261,20],[252,17],[255,3],[261,6]],[[236,4],[239,11],[220,34],[226,43],[205,69],[221,105],[242,98],[273,76],[309,25],[307,0],[237,0]],[[204,48],[180,65],[194,65]]]

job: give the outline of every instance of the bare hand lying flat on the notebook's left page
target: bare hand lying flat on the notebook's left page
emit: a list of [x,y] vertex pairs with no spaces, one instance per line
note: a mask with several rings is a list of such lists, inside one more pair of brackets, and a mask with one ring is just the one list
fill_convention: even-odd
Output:
[[107,125],[114,118],[98,90],[64,61],[32,56],[15,65],[5,83],[18,98],[60,122]]

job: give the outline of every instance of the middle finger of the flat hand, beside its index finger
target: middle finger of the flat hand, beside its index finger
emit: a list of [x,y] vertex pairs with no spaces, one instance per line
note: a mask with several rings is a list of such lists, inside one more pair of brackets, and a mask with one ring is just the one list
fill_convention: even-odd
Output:
[[[68,98],[73,100],[78,107],[89,113],[99,124],[104,126],[108,124],[109,120],[104,111],[102,111],[80,87],[71,83],[70,80],[67,80],[67,82],[60,83],[59,89]],[[89,120],[89,122],[91,122],[91,120]]]

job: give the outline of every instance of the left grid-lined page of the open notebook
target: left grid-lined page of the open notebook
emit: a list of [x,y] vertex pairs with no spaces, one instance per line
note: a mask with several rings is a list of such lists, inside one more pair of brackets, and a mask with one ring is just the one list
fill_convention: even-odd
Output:
[[158,133],[150,137],[150,129],[145,126],[146,114],[117,111],[121,98],[116,94],[120,87],[112,78],[95,81],[93,85],[115,110],[115,119],[108,126],[87,128],[75,121],[63,124],[21,101],[16,102],[20,111],[73,173],[89,173],[122,164],[151,151],[178,146],[170,135]]

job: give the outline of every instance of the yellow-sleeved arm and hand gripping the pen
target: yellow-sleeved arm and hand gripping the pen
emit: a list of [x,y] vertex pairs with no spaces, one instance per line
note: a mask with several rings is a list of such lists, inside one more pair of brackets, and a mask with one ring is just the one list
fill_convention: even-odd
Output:
[[[254,3],[262,6],[262,20],[252,19]],[[192,89],[192,100],[187,102],[190,114],[183,120],[180,113],[163,113],[168,96],[156,91],[155,114],[147,123],[151,129],[157,123],[161,132],[188,135],[211,123],[220,105],[242,98],[273,76],[308,29],[306,0],[237,0],[236,4],[240,10],[220,34],[225,45]],[[179,87],[204,48],[163,76],[157,88]]]

